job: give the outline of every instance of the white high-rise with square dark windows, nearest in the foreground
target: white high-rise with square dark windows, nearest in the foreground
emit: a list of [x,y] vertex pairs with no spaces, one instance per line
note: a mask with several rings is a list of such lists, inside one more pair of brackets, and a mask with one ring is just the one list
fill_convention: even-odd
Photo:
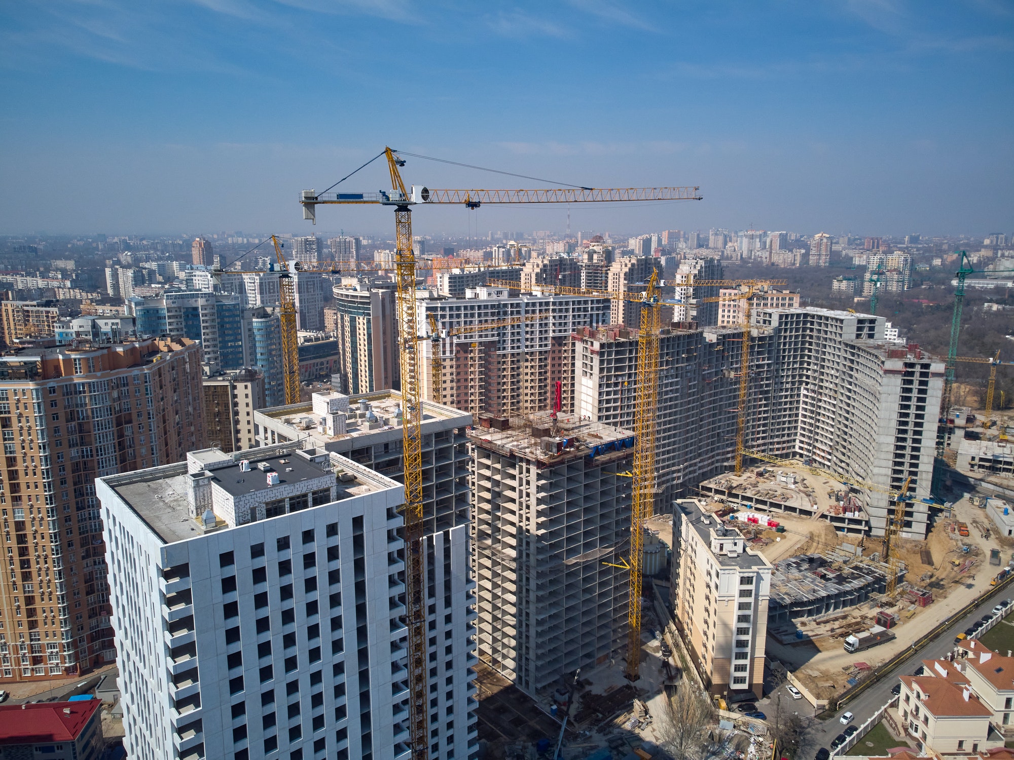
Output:
[[[316,450],[242,456],[96,482],[128,754],[411,757],[403,487]],[[432,757],[454,754],[448,736],[474,741],[474,687],[448,676],[445,690]]]

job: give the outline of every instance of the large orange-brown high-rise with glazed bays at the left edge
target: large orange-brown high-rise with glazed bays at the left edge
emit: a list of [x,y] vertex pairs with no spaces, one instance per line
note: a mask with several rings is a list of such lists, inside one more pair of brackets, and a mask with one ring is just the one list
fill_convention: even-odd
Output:
[[206,446],[200,347],[186,338],[0,357],[0,688],[116,658],[96,477]]

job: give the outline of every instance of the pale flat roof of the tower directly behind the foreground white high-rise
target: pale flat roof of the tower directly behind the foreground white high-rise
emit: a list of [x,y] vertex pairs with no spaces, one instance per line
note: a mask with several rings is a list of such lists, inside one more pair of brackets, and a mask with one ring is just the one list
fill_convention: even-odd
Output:
[[[322,391],[321,391],[322,392]],[[386,422],[379,425],[370,425],[365,420],[349,417],[346,421],[346,433],[340,436],[330,436],[317,428],[319,414],[313,413],[312,401],[300,404],[290,404],[288,406],[275,406],[268,409],[258,409],[255,416],[261,415],[269,420],[275,420],[294,430],[295,433],[305,436],[312,441],[320,443],[331,443],[333,441],[343,441],[358,436],[365,436],[376,433],[378,430],[400,430],[401,425],[395,424],[395,413],[397,407],[402,406],[402,394],[394,390],[381,390],[373,393],[349,396],[349,409],[359,408],[359,401],[363,399],[370,404],[370,408],[377,417],[383,417]],[[467,411],[460,411],[451,406],[423,401],[423,425],[434,421],[453,422],[455,427],[465,427],[472,425],[472,414]]]

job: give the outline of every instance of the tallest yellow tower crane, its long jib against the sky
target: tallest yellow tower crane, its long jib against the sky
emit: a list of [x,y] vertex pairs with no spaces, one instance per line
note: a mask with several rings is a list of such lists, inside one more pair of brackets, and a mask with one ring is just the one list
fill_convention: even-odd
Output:
[[[378,204],[394,208],[395,280],[397,291],[399,350],[402,360],[402,398],[405,408],[403,449],[405,461],[406,588],[409,628],[409,723],[412,756],[428,756],[427,714],[429,694],[426,676],[426,606],[423,565],[423,470],[422,414],[420,388],[419,329],[416,309],[416,258],[412,250],[412,206],[427,204],[463,205],[478,209],[484,204],[599,203],[630,201],[700,201],[699,187],[628,187],[565,189],[406,189],[399,168],[405,159],[387,147],[367,163],[383,156],[390,173],[391,191],[377,193],[321,193],[303,191],[299,203],[303,219],[316,222],[321,204]],[[425,156],[419,156],[426,158]],[[364,164],[365,166],[366,164]],[[360,167],[362,168],[362,167]],[[357,169],[358,171],[358,169]],[[353,172],[355,173],[355,172]],[[351,176],[351,175],[350,175]],[[342,180],[340,180],[342,181]],[[332,185],[334,186],[334,185]],[[330,189],[330,188],[329,188]],[[654,386],[654,382],[649,383]],[[640,390],[639,390],[640,392]],[[654,451],[651,453],[652,465]],[[651,475],[649,470],[647,476]],[[638,600],[640,602],[640,600]],[[640,628],[640,620],[638,621]],[[640,656],[640,641],[637,655]]]

